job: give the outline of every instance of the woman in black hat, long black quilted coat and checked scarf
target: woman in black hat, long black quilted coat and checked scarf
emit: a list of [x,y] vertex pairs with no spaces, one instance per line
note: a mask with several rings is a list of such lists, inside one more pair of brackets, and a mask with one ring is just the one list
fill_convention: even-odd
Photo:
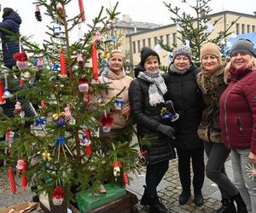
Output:
[[143,136],[149,139],[148,146],[143,145],[142,151],[148,163],[146,172],[146,187],[141,204],[149,205],[155,213],[168,212],[157,196],[159,185],[169,166],[169,159],[175,158],[172,148],[174,130],[163,123],[160,116],[165,107],[163,95],[167,88],[159,71],[160,58],[152,49],[143,48],[141,62],[135,69],[137,79],[131,82],[129,100],[131,116],[137,123],[139,140]]

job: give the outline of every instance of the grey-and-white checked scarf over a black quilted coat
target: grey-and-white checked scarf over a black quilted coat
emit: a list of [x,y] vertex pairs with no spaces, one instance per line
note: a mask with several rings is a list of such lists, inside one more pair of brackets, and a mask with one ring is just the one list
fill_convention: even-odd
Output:
[[165,102],[163,95],[167,92],[166,83],[164,78],[161,77],[160,72],[139,72],[137,78],[141,78],[149,82],[148,95],[149,104],[154,107],[158,103]]

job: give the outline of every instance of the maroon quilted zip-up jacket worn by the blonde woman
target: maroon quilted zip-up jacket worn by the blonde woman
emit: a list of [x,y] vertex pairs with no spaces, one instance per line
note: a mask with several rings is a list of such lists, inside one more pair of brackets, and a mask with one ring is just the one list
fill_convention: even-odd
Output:
[[256,153],[256,70],[231,71],[231,82],[219,100],[222,139],[228,148]]

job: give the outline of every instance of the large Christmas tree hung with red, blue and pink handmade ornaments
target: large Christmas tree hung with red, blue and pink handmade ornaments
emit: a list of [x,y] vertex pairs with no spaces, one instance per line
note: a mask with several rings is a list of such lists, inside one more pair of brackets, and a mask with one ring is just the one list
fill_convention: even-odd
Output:
[[[99,101],[98,94],[108,89],[108,83],[97,83],[97,79],[99,72],[108,69],[109,52],[120,45],[114,30],[118,4],[106,9],[105,17],[102,8],[88,25],[90,30],[83,35],[79,32],[79,38],[71,43],[70,32],[80,31],[86,24],[83,1],[77,3],[80,14],[74,17],[67,17],[67,10],[77,1],[48,2],[34,4],[38,21],[44,15],[52,19],[49,40],[37,44],[29,37],[13,35],[20,39],[17,68],[3,69],[0,89],[2,106],[15,101],[15,110],[11,117],[0,112],[0,129],[6,135],[1,158],[13,193],[14,174],[18,173],[24,189],[31,183],[37,186],[37,193],[46,192],[50,198],[64,198],[68,203],[77,192],[97,192],[102,183],[124,187],[129,181],[127,174],[138,170],[139,163],[136,144],[105,144],[97,135],[99,128],[108,128],[102,120],[116,98],[108,103]],[[44,15],[40,8],[46,10]],[[33,113],[27,114],[27,108]],[[125,134],[131,133],[132,128]]]

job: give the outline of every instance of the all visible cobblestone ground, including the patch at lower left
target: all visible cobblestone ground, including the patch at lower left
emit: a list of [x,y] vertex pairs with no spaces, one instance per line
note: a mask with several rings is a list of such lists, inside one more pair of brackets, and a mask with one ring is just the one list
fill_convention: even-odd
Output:
[[[226,162],[226,170],[229,176],[232,178],[232,170],[230,165],[230,160]],[[130,175],[133,179],[131,184],[127,187],[132,193],[137,194],[137,198],[141,199],[143,194],[143,185],[145,179],[145,172],[142,172],[140,175]],[[19,180],[17,180],[19,183]],[[177,159],[170,161],[169,170],[166,172],[166,176],[160,182],[160,186],[158,187],[159,196],[162,199],[162,202],[166,205],[168,210],[173,212],[193,212],[193,213],[201,213],[201,212],[214,212],[220,206],[220,194],[218,193],[218,187],[209,181],[207,178],[204,182],[202,193],[204,195],[205,204],[201,207],[195,206],[193,202],[193,191],[191,190],[191,198],[189,202],[184,205],[178,204],[178,196],[181,193],[181,186],[179,182],[178,172],[177,172]],[[32,193],[27,188],[27,191],[24,192],[23,189],[18,186],[18,193],[12,194],[9,190],[9,182],[7,173],[3,170],[0,170],[0,209],[1,207],[6,207],[11,204],[17,204],[22,200],[32,200]],[[149,212],[148,207],[145,207],[141,204],[137,204],[137,209],[140,213]],[[36,212],[36,211],[35,211]],[[38,212],[42,212],[41,210]]]

